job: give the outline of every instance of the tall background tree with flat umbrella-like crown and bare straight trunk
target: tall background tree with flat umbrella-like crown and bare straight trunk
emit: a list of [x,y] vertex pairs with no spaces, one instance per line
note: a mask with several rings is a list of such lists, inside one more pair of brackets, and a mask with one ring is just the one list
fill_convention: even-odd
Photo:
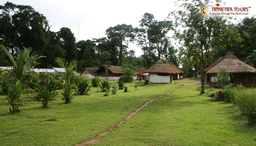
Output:
[[115,27],[109,27],[106,30],[106,34],[108,36],[108,39],[116,39],[118,38],[120,40],[120,51],[119,51],[119,63],[120,66],[122,65],[122,60],[123,60],[123,42],[132,42],[134,40],[134,35],[132,34],[133,32],[133,27],[132,25],[127,25],[127,24],[118,24]]

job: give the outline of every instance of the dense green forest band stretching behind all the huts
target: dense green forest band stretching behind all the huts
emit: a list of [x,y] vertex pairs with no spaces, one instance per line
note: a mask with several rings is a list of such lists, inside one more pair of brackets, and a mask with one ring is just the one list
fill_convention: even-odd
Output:
[[[225,17],[205,19],[200,12],[191,13],[201,5],[201,1],[184,4],[180,7],[186,11],[173,11],[162,21],[155,20],[153,14],[146,12],[138,20],[139,27],[117,24],[106,30],[106,36],[76,42],[67,27],[52,32],[46,16],[31,6],[6,2],[0,5],[0,44],[13,56],[23,47],[32,47],[32,52],[45,56],[38,60],[41,63],[37,66],[39,68],[58,67],[56,57],[65,58],[68,62],[76,59],[78,72],[84,67],[102,65],[100,52],[104,51],[110,53],[107,61],[112,65],[132,64],[149,68],[158,59],[164,59],[176,66],[181,65],[185,77],[195,76],[202,66],[211,65],[229,51],[255,67],[256,17],[245,17],[236,23]],[[174,36],[166,35],[170,31]],[[178,42],[176,46],[171,38]],[[136,43],[143,54],[135,56],[134,50],[128,50],[129,42]],[[11,65],[3,50],[0,50],[0,56],[0,66]]]

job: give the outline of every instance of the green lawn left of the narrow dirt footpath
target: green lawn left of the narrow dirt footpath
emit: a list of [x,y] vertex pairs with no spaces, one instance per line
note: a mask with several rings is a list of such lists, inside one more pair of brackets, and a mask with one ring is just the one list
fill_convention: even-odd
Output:
[[[117,81],[110,82],[117,84]],[[16,114],[10,114],[6,97],[0,96],[0,145],[75,145],[115,127],[145,102],[180,86],[144,86],[142,83],[126,83],[130,92],[117,90],[116,95],[109,93],[108,96],[92,88],[91,95],[73,96],[70,104],[64,104],[62,96],[56,96],[47,109],[42,108],[41,102],[31,98],[33,94],[23,94],[25,106],[20,107],[20,112]],[[135,84],[138,84],[137,91]],[[42,121],[54,118],[58,119]]]

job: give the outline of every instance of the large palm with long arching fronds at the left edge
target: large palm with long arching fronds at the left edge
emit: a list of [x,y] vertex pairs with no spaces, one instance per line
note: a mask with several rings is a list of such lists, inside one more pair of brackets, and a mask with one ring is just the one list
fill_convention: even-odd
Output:
[[32,51],[31,47],[24,47],[24,50],[19,50],[17,52],[17,57],[12,56],[4,45],[0,45],[0,48],[4,50],[6,56],[10,59],[13,65],[11,72],[5,75],[3,80],[9,80],[13,85],[15,85],[17,81],[20,81],[23,86],[32,83],[31,80],[39,80],[35,71],[31,68],[39,64],[36,62],[37,59],[45,56],[38,56],[36,53],[32,53],[29,56]]

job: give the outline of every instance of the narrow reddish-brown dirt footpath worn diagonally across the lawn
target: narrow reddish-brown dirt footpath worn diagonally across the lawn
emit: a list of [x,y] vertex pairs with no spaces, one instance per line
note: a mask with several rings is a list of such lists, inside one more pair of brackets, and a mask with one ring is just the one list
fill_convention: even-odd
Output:
[[[172,90],[175,90],[175,88],[173,88]],[[160,97],[162,97],[162,96],[164,96],[164,95],[170,94],[170,93],[172,92],[172,90],[170,90],[169,92],[167,92],[167,93],[165,93],[165,94],[163,94],[163,95],[160,95],[160,96],[158,96],[158,97],[156,97],[156,98],[154,98],[154,99],[152,99],[152,100],[146,102],[145,104],[141,105],[136,111],[134,111],[134,112],[132,112],[130,115],[128,115],[128,116],[125,118],[125,120],[119,122],[119,123],[116,125],[116,127],[122,125],[124,121],[129,120],[129,119],[132,117],[132,115],[136,114],[138,111],[140,111],[143,107],[147,106],[149,103],[152,103],[153,101],[155,101],[156,99],[158,99],[158,98],[160,98]],[[108,134],[108,132],[109,132],[110,130],[113,130],[113,129],[114,129],[114,128],[109,128],[109,130],[107,130],[107,131],[105,131],[105,132],[102,132],[101,134],[97,135],[97,136],[95,137],[95,139],[92,139],[92,140],[90,140],[90,141],[88,140],[88,141],[85,141],[85,142],[83,142],[83,143],[76,144],[76,146],[85,146],[85,145],[90,145],[90,144],[99,142],[100,139],[101,139],[101,137],[102,137],[103,135]]]

